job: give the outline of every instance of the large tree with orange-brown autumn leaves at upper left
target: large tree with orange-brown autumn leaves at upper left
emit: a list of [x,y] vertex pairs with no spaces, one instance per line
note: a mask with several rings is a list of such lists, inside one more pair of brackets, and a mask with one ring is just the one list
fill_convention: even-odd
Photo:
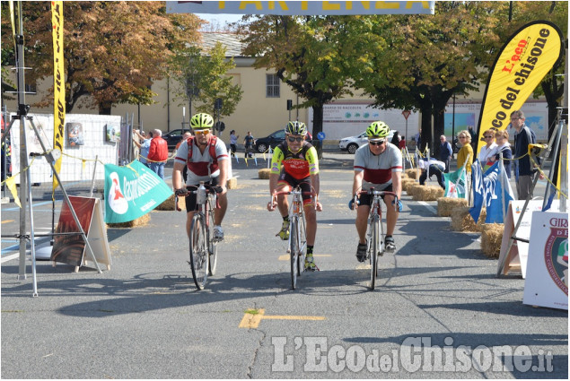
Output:
[[[151,85],[165,74],[172,49],[196,40],[199,26],[192,14],[165,12],[161,2],[65,2],[68,112],[97,107],[101,114],[110,114],[113,103],[153,103]],[[23,20],[25,64],[34,69],[26,75],[38,81],[53,75],[49,2],[23,3]],[[9,18],[3,17],[2,23],[4,50],[13,44],[8,43]],[[52,103],[53,88],[38,106]]]

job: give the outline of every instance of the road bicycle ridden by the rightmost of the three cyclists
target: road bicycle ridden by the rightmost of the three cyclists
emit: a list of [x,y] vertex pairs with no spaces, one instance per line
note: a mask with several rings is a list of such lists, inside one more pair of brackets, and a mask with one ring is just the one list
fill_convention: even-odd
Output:
[[[378,277],[379,261],[378,256],[384,255],[386,249],[386,232],[382,225],[381,198],[384,195],[394,196],[395,208],[398,208],[398,195],[393,192],[377,191],[370,188],[368,191],[359,192],[358,195],[372,195],[370,203],[370,214],[368,215],[368,229],[366,230],[366,259],[370,260],[370,289],[374,290]],[[358,202],[355,196],[355,203]]]

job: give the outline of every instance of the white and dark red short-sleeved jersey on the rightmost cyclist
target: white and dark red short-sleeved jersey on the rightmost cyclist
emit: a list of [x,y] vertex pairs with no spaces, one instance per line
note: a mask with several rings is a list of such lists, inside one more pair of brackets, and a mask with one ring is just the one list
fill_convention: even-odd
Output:
[[386,142],[384,152],[374,155],[368,144],[364,144],[355,153],[355,171],[363,170],[362,189],[383,190],[392,183],[392,172],[402,171],[402,153],[394,144]]

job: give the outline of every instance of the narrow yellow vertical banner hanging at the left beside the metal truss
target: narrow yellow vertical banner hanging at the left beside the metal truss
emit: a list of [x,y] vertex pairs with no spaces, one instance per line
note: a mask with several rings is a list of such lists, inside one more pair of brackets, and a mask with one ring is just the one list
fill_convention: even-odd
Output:
[[[51,25],[54,40],[54,149],[64,152],[66,123],[66,72],[64,67],[64,2],[51,2]],[[56,160],[57,174],[61,170],[61,156]],[[57,178],[53,178],[53,189]]]

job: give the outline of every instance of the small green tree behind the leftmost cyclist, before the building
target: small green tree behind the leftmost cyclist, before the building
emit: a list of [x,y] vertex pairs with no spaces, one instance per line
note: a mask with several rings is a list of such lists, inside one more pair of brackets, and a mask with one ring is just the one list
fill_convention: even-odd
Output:
[[175,100],[187,100],[190,104],[198,100],[201,104],[197,112],[215,116],[215,100],[221,99],[220,116],[232,115],[243,91],[241,85],[232,84],[232,77],[227,75],[235,63],[233,58],[225,58],[225,51],[219,41],[207,52],[195,46],[177,50],[171,59],[171,77],[178,82]]

